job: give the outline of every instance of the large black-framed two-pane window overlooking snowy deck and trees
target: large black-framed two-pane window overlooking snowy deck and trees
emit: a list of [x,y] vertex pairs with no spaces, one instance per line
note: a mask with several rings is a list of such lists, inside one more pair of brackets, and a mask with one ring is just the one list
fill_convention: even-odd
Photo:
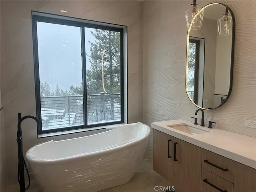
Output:
[[32,12],[38,134],[125,122],[126,27]]

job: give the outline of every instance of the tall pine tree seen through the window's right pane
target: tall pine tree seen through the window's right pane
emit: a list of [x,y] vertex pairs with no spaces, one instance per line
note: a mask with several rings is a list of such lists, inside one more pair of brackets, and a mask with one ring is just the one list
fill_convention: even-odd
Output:
[[102,54],[104,54],[104,87],[108,93],[120,93],[120,33],[96,29],[91,31],[91,68],[87,70],[87,94],[104,92],[102,86]]

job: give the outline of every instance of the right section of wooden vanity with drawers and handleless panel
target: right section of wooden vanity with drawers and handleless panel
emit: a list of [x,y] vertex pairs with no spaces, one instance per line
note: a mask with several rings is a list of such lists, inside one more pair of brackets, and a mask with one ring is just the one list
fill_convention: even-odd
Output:
[[219,191],[205,179],[222,191],[256,192],[256,169],[202,149],[201,192]]

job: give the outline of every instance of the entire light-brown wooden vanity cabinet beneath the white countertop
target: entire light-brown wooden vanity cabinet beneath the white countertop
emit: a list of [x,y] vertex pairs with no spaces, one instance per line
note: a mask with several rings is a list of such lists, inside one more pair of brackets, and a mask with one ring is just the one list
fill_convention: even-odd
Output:
[[256,192],[256,169],[158,130],[153,134],[153,169],[182,192]]

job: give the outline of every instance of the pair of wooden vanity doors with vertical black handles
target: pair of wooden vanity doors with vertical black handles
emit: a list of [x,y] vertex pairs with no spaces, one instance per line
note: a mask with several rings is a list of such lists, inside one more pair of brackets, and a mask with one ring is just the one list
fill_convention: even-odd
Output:
[[153,134],[153,169],[183,192],[200,192],[202,148],[155,129]]

